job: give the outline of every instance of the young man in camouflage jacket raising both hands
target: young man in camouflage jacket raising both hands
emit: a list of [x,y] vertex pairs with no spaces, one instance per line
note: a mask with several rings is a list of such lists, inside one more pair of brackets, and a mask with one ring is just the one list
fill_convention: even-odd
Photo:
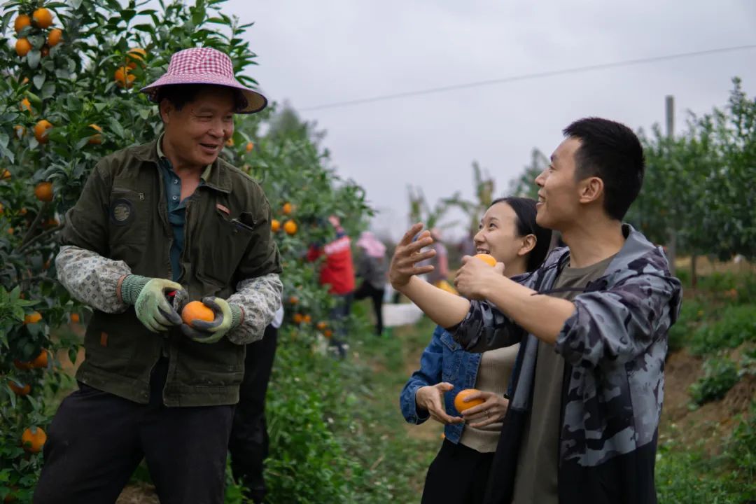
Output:
[[565,128],[536,184],[556,249],[523,284],[466,257],[466,298],[416,275],[428,233],[399,243],[389,276],[468,351],[520,343],[513,396],[489,478],[489,504],[656,502],[654,462],[664,400],[667,332],[680,282],[665,255],[623,224],[643,184],[643,148],[624,125],[581,119]]

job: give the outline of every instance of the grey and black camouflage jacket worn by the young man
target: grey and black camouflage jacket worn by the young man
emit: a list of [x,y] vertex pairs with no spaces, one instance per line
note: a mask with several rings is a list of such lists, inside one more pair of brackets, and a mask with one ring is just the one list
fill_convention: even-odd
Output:
[[[603,277],[575,297],[575,311],[556,339],[555,350],[565,359],[559,502],[656,501],[667,332],[682,292],[662,250],[627,224],[623,232],[624,246]],[[568,248],[554,250],[524,285],[546,294],[568,258]],[[472,301],[452,333],[468,351],[522,342],[486,499],[510,504],[538,339],[486,301]]]

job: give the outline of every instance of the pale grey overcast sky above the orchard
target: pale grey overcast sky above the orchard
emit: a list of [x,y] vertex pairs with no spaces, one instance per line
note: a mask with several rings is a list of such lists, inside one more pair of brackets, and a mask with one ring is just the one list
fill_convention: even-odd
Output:
[[[603,116],[646,130],[675,97],[686,110],[722,106],[730,79],[756,94],[756,49],[306,110],[324,104],[667,54],[756,44],[753,0],[231,0],[254,21],[253,77],[327,130],[342,178],[367,190],[379,232],[401,235],[407,184],[433,203],[472,197],[472,160],[496,195],[530,159],[549,155],[565,125]],[[457,215],[458,217],[459,215]],[[454,218],[454,215],[451,215]],[[453,231],[448,234],[457,234]]]

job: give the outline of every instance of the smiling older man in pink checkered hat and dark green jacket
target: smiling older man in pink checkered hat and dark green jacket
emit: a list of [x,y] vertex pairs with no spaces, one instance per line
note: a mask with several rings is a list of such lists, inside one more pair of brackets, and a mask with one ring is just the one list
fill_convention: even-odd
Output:
[[[234,113],[265,97],[211,48],[174,54],[142,91],[163,134],[101,159],[66,215],[58,279],[94,315],[34,502],[115,502],[143,458],[161,502],[223,502],[244,345],[280,306],[268,201],[218,157]],[[192,300],[214,320],[182,323]]]

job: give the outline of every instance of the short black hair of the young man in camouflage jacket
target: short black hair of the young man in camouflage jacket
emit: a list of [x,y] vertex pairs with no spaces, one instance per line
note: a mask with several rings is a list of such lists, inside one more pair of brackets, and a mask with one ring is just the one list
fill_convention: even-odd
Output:
[[646,162],[637,135],[624,124],[587,117],[567,126],[565,137],[578,138],[575,177],[598,177],[604,182],[604,210],[621,221],[640,193]]

